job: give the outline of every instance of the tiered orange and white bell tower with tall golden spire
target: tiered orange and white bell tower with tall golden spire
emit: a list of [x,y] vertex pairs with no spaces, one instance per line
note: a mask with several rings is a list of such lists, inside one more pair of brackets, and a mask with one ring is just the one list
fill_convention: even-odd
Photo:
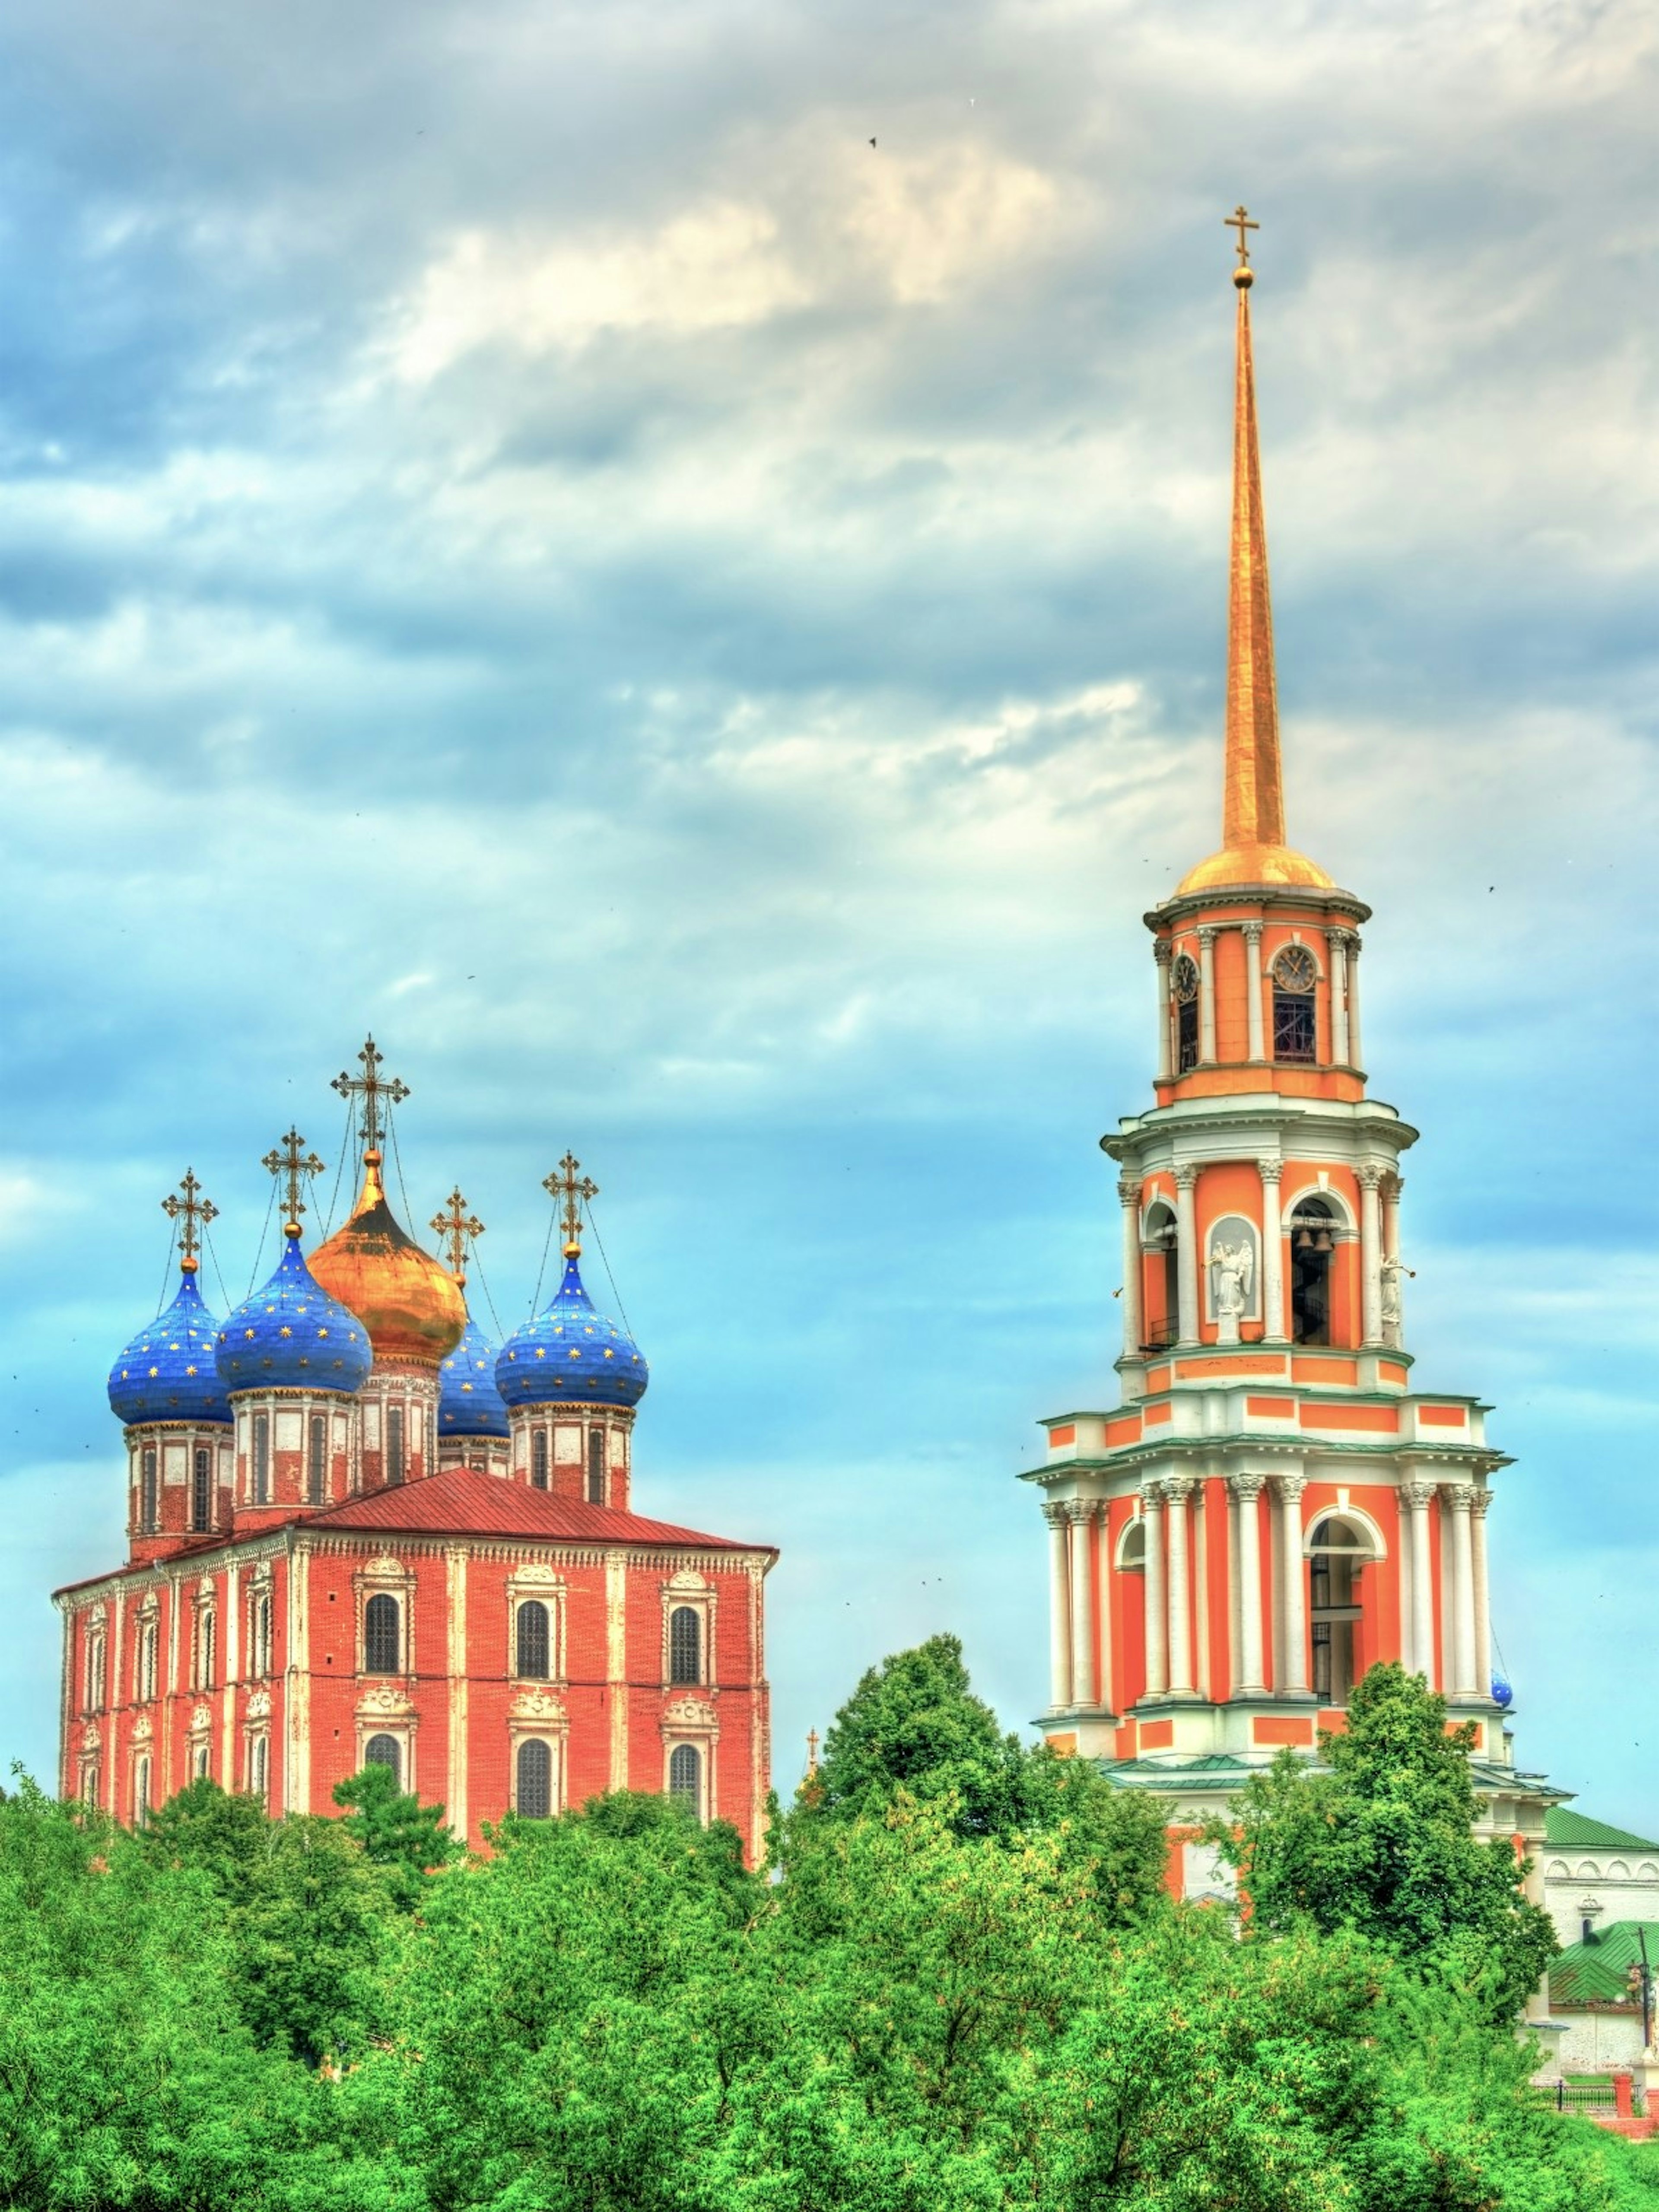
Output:
[[[1146,916],[1157,1104],[1102,1137],[1121,1206],[1121,1398],[1044,1420],[1046,1739],[1170,1807],[1183,1845],[1398,1659],[1475,1730],[1482,1832],[1537,1856],[1564,1792],[1515,1770],[1486,1513],[1511,1462],[1411,1380],[1402,1155],[1360,1031],[1369,907],[1285,843],[1239,226],[1221,849]],[[1537,1887],[1537,1874],[1533,1887]]]

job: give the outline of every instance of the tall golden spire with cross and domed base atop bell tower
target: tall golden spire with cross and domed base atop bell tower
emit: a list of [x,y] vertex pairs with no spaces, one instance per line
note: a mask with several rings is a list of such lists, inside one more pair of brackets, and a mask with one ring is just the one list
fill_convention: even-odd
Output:
[[1332,878],[1285,845],[1285,779],[1279,759],[1274,615],[1267,595],[1267,515],[1261,504],[1256,367],[1250,356],[1250,268],[1245,208],[1221,219],[1239,232],[1239,356],[1232,400],[1232,551],[1228,562],[1228,754],[1221,852],[1181,878],[1177,896],[1221,885],[1294,883],[1332,889]]

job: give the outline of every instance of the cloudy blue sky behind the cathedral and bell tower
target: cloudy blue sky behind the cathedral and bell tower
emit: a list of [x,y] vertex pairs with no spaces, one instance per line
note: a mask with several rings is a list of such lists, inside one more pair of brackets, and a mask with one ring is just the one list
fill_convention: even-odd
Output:
[[1639,0],[11,0],[0,1761],[124,1551],[161,1197],[223,1312],[369,1029],[487,1325],[599,1183],[637,1504],[781,1548],[776,1781],[936,1630],[1040,1712],[1015,1478],[1115,1402],[1097,1139],[1219,843],[1248,201],[1416,1374],[1515,1455],[1522,1765],[1657,1834],[1655,111]]

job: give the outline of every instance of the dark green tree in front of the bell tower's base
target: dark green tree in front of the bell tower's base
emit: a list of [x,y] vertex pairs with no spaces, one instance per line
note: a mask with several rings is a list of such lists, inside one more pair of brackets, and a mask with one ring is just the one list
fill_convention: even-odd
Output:
[[1478,1991],[1493,2022],[1513,2020],[1557,1942],[1522,1893],[1513,1847],[1473,1836],[1471,1750],[1473,1728],[1449,1730],[1422,1677],[1374,1666],[1347,1701],[1347,1730],[1321,1736],[1323,1765],[1281,1754],[1214,1829],[1252,1927],[1352,1929]]

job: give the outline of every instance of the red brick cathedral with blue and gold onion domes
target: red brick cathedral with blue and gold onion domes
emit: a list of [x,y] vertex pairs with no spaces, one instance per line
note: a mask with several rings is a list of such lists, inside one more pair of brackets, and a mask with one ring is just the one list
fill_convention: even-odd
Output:
[[212,1201],[164,1201],[179,1290],[119,1354],[128,1557],[55,1593],[64,1796],[117,1820],[210,1776],[272,1814],[332,1812],[385,1765],[456,1836],[602,1790],[670,1792],[730,1820],[754,1860],[770,1781],[765,1544],[633,1511],[646,1363],[582,1283],[597,1186],[568,1152],[564,1276],[500,1352],[467,1312],[482,1234],[460,1190],[405,1232],[383,1186],[407,1097],[369,1037],[356,1208],[310,1259],[290,1130],[263,1166],[285,1197],[263,1290],[215,1318],[199,1250]]

